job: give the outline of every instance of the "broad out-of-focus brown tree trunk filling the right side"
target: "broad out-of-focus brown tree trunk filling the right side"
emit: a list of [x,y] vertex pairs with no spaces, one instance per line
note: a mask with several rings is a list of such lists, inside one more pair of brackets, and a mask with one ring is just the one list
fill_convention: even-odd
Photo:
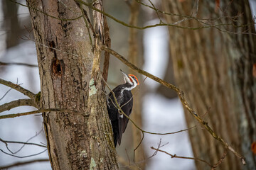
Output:
[[[190,16],[193,3],[194,1],[163,1],[163,6],[165,12]],[[226,0],[220,1],[220,5],[221,10],[215,8],[215,1],[200,1],[197,17],[239,15],[236,18],[239,22],[222,18],[212,23],[252,23],[248,1]],[[181,17],[166,16],[166,19],[168,23],[174,23]],[[202,24],[189,20],[178,26],[196,28]],[[247,165],[243,166],[229,152],[220,169],[256,169],[256,157],[250,149],[250,145],[256,140],[256,79],[252,75],[252,67],[256,62],[256,36],[240,33],[243,30],[255,33],[255,28],[253,24],[242,28],[218,28],[238,34],[221,32],[216,28],[191,30],[169,27],[176,82],[185,92],[192,108],[204,117],[220,137],[246,158]],[[188,127],[195,125],[194,118],[184,110]],[[206,159],[211,164],[217,163],[225,148],[200,127],[188,132],[194,156]],[[196,166],[198,169],[208,169],[201,162],[196,162]]]

